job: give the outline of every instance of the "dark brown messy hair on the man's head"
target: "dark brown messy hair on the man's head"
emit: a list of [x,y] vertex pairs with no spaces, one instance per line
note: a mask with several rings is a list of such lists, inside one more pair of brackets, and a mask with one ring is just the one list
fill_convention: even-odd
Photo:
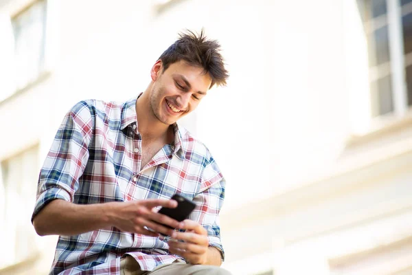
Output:
[[179,39],[170,45],[159,59],[163,64],[163,72],[171,64],[181,60],[192,66],[203,67],[204,74],[211,77],[209,89],[215,84],[225,86],[229,77],[220,54],[220,44],[216,40],[207,39],[203,29],[198,35],[190,30],[180,33]]

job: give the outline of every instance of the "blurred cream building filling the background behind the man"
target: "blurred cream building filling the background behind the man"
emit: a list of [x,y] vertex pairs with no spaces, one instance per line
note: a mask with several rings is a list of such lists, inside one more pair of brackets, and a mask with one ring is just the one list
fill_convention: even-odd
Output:
[[412,0],[0,0],[0,274],[47,274],[38,171],[78,100],[127,100],[177,32],[231,78],[182,122],[227,177],[233,274],[412,274]]

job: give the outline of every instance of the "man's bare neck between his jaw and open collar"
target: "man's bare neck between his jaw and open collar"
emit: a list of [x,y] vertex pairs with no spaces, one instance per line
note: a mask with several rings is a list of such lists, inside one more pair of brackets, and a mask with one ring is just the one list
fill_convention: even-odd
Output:
[[150,86],[138,98],[136,102],[137,130],[142,138],[146,140],[170,140],[170,133],[173,135],[171,125],[160,122],[150,109]]

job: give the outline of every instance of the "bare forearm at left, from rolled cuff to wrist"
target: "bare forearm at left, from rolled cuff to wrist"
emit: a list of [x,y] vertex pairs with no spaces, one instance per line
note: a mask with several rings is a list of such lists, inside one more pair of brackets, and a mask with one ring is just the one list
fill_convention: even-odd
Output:
[[111,226],[109,203],[78,205],[62,199],[50,202],[34,217],[37,234],[71,236]]

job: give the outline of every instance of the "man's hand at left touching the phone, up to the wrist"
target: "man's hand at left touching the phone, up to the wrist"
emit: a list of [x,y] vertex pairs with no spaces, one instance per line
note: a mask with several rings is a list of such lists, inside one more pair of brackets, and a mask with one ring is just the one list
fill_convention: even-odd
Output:
[[[109,217],[115,228],[124,232],[133,232],[147,236],[159,236],[159,233],[171,236],[172,228],[179,228],[179,221],[153,210],[157,206],[176,208],[177,201],[173,199],[142,199],[139,201],[112,202],[107,203]],[[152,232],[146,228],[155,230]],[[157,233],[159,232],[159,233]]]

